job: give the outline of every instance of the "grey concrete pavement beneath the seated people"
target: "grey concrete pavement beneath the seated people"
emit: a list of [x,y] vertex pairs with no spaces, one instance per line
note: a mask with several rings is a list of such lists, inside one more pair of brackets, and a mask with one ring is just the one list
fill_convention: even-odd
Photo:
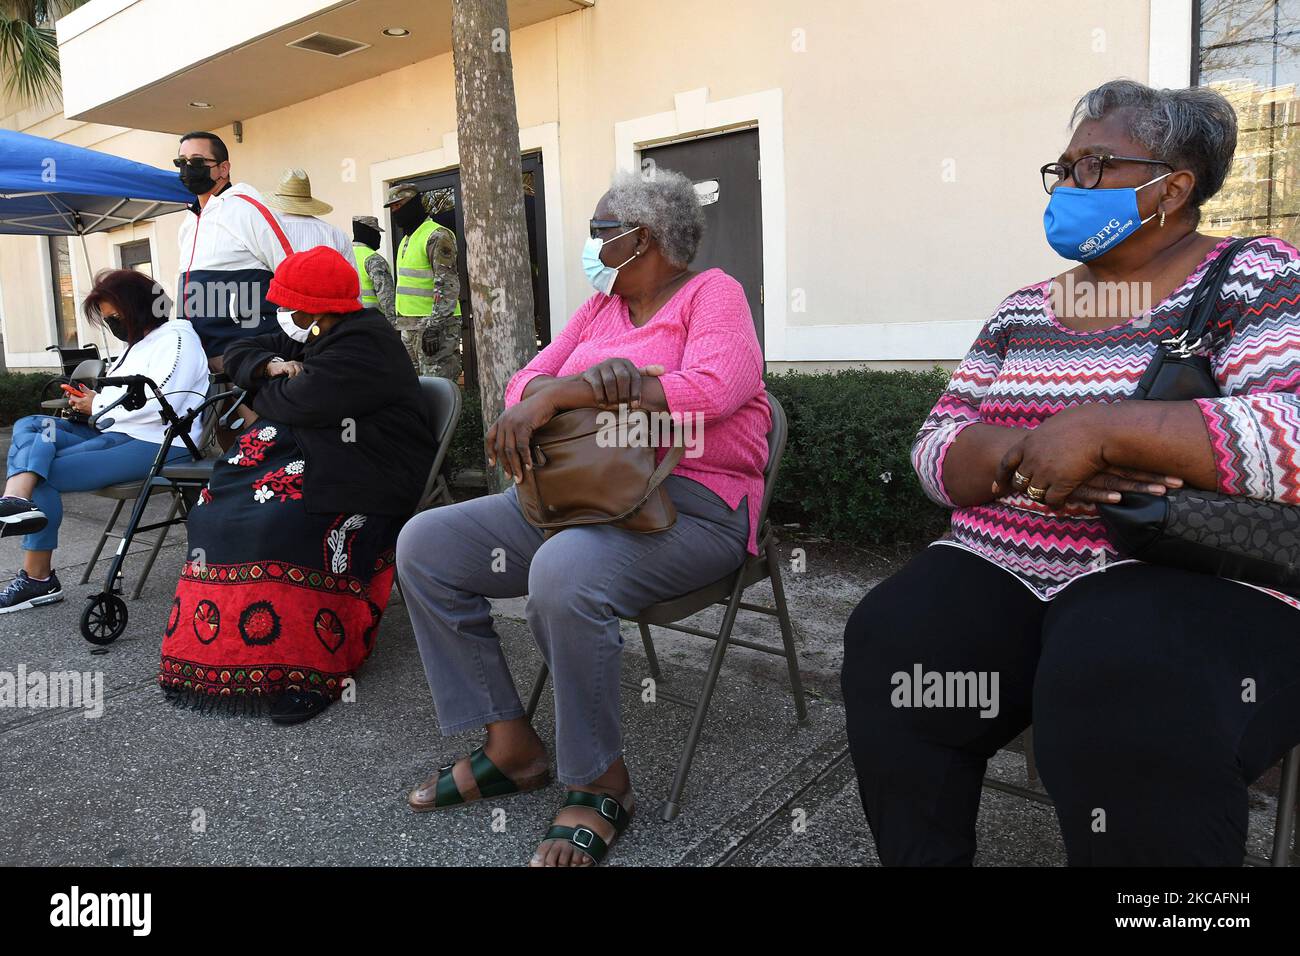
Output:
[[[153,506],[157,507],[157,506]],[[0,864],[421,864],[519,865],[562,800],[559,784],[450,812],[412,814],[404,791],[443,757],[476,745],[443,739],[424,683],[411,626],[389,607],[376,652],[358,678],[358,701],[298,726],[205,717],[177,710],[155,683],[166,609],[181,563],[183,529],[173,535],[126,635],[95,654],[78,632],[87,596],[78,585],[110,502],[68,496],[57,568],[62,604],[0,617],[0,670],[101,671],[101,717],[75,710],[0,709]],[[681,816],[658,806],[689,726],[667,702],[623,700],[627,758],[640,808],[610,864],[858,865],[875,864],[844,736],[837,670],[840,628],[874,580],[842,561],[788,574],[809,688],[809,721],[797,726],[784,662],[732,648],[706,723]],[[12,571],[17,542],[0,542]],[[127,589],[142,558],[127,563]],[[103,570],[103,568],[101,568]],[[749,600],[770,601],[766,588]],[[499,630],[526,696],[538,657],[521,602],[498,606]],[[714,614],[714,613],[708,613]],[[708,617],[708,615],[702,615]],[[740,618],[740,632],[779,640],[766,617]],[[694,696],[711,644],[656,632],[664,689]],[[624,676],[640,680],[645,657],[627,628]],[[543,739],[551,706],[538,714]],[[1023,782],[1018,753],[992,773]],[[1253,799],[1252,851],[1271,834],[1271,797]],[[1049,808],[985,791],[979,864],[1060,865],[1063,852]]]

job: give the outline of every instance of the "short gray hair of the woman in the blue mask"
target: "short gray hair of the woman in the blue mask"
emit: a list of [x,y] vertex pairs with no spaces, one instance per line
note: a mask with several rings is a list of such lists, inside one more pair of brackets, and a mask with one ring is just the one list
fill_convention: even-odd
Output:
[[1236,111],[1222,94],[1204,86],[1153,90],[1132,79],[1112,79],[1086,92],[1070,125],[1128,111],[1127,133],[1174,169],[1190,169],[1196,186],[1188,199],[1192,219],[1219,191],[1236,152]]

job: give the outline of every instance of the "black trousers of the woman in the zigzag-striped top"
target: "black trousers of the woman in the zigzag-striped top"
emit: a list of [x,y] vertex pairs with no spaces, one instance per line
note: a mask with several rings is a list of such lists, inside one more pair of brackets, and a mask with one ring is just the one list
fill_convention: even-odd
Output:
[[[927,548],[867,593],[844,645],[885,865],[968,865],[985,763],[1032,721],[1071,865],[1239,866],[1247,787],[1300,743],[1300,611],[1208,575],[1121,564],[1044,604],[978,555]],[[952,691],[918,706],[918,665],[996,674],[996,715]]]

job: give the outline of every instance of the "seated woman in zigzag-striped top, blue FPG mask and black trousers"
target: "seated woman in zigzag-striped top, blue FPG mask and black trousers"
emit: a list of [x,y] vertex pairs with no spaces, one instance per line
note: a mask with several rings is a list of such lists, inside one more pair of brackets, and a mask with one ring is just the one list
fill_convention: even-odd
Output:
[[1079,265],[985,323],[913,447],[952,532],[845,630],[887,864],[971,862],[985,763],[1032,721],[1071,864],[1239,865],[1247,787],[1300,743],[1300,601],[1123,561],[1096,509],[1184,484],[1300,505],[1300,252],[1258,238],[1231,261],[1222,397],[1131,401],[1230,245],[1196,228],[1236,117],[1210,90],[1114,81],[1075,122],[1044,225]]

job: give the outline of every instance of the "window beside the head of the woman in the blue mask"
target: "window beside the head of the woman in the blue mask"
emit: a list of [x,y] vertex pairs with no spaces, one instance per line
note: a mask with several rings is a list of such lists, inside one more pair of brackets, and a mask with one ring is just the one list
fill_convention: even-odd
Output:
[[1232,169],[1200,228],[1300,245],[1300,0],[1199,0],[1195,12],[1195,82],[1238,118]]

